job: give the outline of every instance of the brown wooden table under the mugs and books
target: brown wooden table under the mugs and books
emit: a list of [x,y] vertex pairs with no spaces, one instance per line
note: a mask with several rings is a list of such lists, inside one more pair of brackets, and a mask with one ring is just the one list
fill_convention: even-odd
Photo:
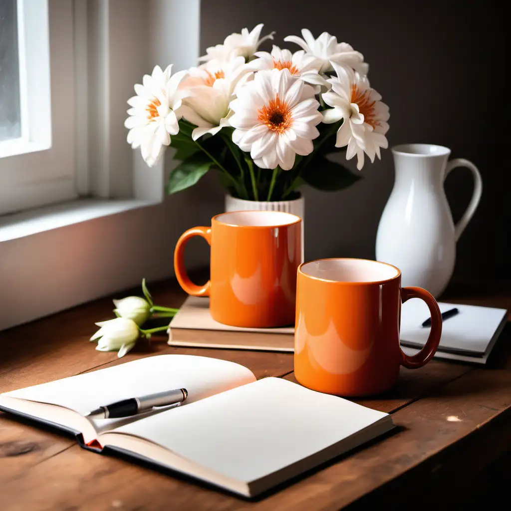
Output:
[[[184,299],[173,281],[152,291],[160,305]],[[444,299],[511,310],[506,289],[458,287]],[[291,354],[179,349],[163,337],[140,341],[122,360],[100,353],[88,338],[111,309],[110,299],[100,299],[1,333],[0,391],[163,353],[223,358],[258,378],[293,380]],[[511,482],[510,333],[508,323],[485,368],[432,361],[402,369],[392,391],[360,400],[391,412],[396,432],[257,501],[88,452],[73,439],[0,414],[0,509],[460,509],[479,502],[477,496],[487,503],[492,496],[485,493]]]

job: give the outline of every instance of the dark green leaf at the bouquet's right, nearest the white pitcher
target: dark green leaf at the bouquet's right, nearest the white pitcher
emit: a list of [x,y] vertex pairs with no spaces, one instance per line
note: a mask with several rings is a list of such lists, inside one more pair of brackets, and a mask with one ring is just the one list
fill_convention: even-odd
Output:
[[362,178],[324,155],[316,155],[301,175],[311,187],[324,192],[348,188]]

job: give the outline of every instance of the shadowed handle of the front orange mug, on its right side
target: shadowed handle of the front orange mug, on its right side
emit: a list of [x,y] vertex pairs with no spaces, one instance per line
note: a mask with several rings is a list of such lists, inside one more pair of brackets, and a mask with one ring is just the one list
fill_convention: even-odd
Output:
[[417,287],[401,288],[401,300],[403,303],[410,298],[421,298],[421,300],[424,300],[431,314],[431,332],[429,333],[428,340],[423,349],[413,356],[406,355],[403,353],[403,350],[401,350],[401,356],[403,357],[401,365],[409,369],[416,369],[428,363],[433,358],[438,348],[440,336],[442,335],[442,315],[440,314],[440,309],[433,295],[428,293],[425,289]]

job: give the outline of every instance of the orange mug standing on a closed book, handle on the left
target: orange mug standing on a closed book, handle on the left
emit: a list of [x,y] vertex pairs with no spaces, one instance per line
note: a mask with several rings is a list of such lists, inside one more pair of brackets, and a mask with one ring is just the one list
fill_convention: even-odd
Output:
[[[211,277],[204,286],[193,284],[184,269],[184,247],[193,236],[211,245]],[[301,261],[301,219],[277,211],[222,213],[211,227],[187,230],[174,252],[184,291],[210,296],[213,319],[234,327],[293,324]]]

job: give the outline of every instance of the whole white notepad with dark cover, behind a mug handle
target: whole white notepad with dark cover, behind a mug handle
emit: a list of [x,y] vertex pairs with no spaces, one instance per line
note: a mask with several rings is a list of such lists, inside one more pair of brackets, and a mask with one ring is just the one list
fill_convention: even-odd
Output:
[[[507,311],[493,307],[438,302],[440,312],[457,308],[459,313],[442,324],[442,337],[435,358],[485,364],[507,322]],[[401,344],[413,355],[424,345],[429,328],[422,327],[430,316],[421,300],[408,300],[401,311]]]

